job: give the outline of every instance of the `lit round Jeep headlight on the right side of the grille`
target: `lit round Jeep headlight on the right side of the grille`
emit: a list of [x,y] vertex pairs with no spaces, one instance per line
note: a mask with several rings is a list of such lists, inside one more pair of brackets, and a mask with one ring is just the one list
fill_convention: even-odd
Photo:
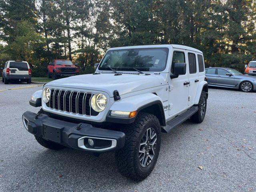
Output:
[[91,107],[96,112],[102,112],[107,106],[107,98],[104,94],[95,94],[91,98]]

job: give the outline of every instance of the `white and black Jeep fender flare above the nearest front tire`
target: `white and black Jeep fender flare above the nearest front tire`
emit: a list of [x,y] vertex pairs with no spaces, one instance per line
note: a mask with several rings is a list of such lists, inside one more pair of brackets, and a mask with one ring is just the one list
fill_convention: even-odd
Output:
[[[166,121],[162,100],[159,96],[153,93],[131,96],[114,102],[106,116],[106,122],[130,124],[134,122],[139,112],[148,112],[148,109],[151,107],[157,107],[157,110],[154,110],[154,115],[157,116],[160,124],[165,126]],[[113,117],[110,116],[112,110],[127,112],[137,111],[137,114],[133,118]]]

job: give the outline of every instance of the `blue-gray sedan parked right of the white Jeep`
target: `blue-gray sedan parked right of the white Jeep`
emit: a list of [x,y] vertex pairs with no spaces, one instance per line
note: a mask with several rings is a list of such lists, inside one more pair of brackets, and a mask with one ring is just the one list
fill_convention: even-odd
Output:
[[209,86],[240,89],[243,92],[256,91],[256,77],[244,75],[237,70],[224,67],[205,69]]

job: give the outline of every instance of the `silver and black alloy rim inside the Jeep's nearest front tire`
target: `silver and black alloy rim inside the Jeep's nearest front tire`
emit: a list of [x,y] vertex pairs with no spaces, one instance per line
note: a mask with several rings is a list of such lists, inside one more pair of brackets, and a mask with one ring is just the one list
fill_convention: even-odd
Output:
[[147,167],[153,160],[156,150],[156,131],[150,127],[145,130],[140,141],[139,161],[142,167]]

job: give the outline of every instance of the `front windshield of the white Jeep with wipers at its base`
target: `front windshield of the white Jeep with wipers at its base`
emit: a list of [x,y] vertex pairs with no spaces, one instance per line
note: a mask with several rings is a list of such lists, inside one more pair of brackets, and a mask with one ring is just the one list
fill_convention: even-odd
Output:
[[[136,48],[106,52],[99,70],[163,71],[166,67],[168,48]],[[110,68],[109,68],[110,67]]]

